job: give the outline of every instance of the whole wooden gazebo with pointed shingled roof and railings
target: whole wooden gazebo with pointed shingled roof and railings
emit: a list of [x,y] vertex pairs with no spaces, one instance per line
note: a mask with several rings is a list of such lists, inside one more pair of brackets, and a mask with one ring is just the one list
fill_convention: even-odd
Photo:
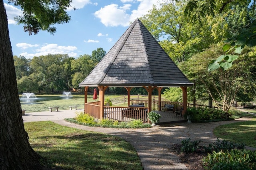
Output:
[[[152,110],[161,111],[164,104],[171,104],[161,101],[163,87],[182,89],[183,103],[174,104],[181,105],[184,108],[183,113],[186,112],[187,87],[193,86],[193,83],[137,18],[79,86],[84,87],[84,112],[94,118],[127,121],[135,118],[131,115],[136,112],[136,118],[148,122],[146,113]],[[89,87],[98,87],[99,101],[87,103]],[[108,87],[126,88],[128,106],[104,106],[104,91]],[[148,101],[144,101],[143,109],[130,107],[130,90],[133,87],[144,87],[148,92]],[[158,89],[158,101],[152,101],[153,89]]]

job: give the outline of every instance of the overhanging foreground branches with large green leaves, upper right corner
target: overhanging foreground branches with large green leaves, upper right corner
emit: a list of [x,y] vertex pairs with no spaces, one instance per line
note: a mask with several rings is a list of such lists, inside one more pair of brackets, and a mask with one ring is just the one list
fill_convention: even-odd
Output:
[[[223,51],[226,53],[210,61],[208,71],[214,71],[218,68],[229,69],[233,61],[238,59],[237,54],[240,54],[246,45],[248,47],[256,45],[256,0],[189,0],[186,5],[185,14],[193,18],[194,21],[206,16],[213,16],[216,19],[216,16],[232,13],[235,6],[244,8],[252,17],[252,20],[236,35],[227,38],[228,40],[223,46]],[[235,20],[235,22],[236,25],[241,23],[239,20]]]

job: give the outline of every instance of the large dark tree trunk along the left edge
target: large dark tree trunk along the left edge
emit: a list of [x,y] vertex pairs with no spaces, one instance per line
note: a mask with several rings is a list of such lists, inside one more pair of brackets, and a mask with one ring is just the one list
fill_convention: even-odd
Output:
[[0,169],[40,169],[28,142],[16,82],[3,0],[0,0]]

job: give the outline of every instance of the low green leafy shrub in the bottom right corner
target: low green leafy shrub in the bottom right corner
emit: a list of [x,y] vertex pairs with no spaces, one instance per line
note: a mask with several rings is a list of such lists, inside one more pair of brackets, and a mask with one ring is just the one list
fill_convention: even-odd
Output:
[[206,170],[251,170],[256,169],[256,151],[232,149],[213,151],[203,158]]

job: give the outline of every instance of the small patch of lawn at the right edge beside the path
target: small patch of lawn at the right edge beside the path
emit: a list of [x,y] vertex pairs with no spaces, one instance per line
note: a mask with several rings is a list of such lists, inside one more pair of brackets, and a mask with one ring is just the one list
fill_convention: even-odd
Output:
[[256,148],[256,118],[252,121],[243,121],[221,125],[214,129],[217,138],[244,143],[246,146]]

